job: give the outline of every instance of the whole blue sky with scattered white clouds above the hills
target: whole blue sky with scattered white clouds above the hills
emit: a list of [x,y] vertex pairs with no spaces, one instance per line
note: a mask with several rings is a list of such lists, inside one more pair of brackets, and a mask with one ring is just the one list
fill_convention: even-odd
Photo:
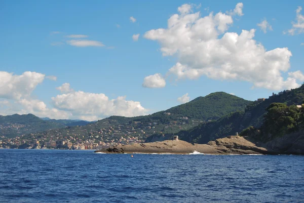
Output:
[[137,116],[304,82],[303,1],[0,1],[0,114]]

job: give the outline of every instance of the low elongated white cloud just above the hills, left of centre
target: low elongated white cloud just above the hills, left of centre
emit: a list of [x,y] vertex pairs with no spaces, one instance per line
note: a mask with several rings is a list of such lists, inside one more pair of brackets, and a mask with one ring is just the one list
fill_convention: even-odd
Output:
[[[86,93],[82,91],[52,97],[56,108],[70,112],[73,116],[85,116],[93,119],[109,115],[137,116],[145,115],[147,109],[139,102],[127,101],[126,97],[110,100],[104,94]],[[92,117],[93,116],[93,117]]]

